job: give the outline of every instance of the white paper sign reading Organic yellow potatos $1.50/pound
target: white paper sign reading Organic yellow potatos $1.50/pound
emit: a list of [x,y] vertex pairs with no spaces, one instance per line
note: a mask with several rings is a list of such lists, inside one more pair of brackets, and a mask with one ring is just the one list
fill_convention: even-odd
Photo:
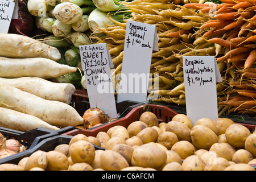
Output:
[[[218,118],[216,70],[214,56],[183,56],[187,116],[193,125],[200,118]],[[217,72],[217,74],[216,74]]]

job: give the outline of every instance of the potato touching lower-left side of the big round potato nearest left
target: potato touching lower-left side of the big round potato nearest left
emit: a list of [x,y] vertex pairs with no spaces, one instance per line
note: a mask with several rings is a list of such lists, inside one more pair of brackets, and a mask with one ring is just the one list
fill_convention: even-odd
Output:
[[48,164],[46,171],[60,171],[68,169],[68,157],[58,151],[49,151],[46,153]]

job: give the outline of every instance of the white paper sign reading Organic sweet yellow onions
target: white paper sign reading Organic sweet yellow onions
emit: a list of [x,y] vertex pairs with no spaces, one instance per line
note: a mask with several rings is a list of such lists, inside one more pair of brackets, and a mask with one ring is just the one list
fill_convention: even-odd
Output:
[[112,59],[108,47],[102,43],[79,46],[79,48],[90,107],[98,107],[110,118],[117,118],[110,74]]

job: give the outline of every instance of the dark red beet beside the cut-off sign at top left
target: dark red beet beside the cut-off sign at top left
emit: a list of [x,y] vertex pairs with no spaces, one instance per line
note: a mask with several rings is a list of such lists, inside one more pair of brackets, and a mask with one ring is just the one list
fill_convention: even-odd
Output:
[[9,33],[28,36],[34,27],[34,19],[27,10],[27,0],[18,0],[18,19],[11,19]]

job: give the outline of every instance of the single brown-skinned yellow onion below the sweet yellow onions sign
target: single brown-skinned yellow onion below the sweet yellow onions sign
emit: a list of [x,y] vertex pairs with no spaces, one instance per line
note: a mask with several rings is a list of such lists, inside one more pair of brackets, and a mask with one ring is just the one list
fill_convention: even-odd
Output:
[[84,118],[84,122],[85,122],[84,125],[86,129],[89,129],[90,127],[93,127],[98,123],[109,122],[109,115],[105,114],[104,111],[102,111],[97,107],[87,109],[84,112],[84,115],[82,116],[82,118]]

